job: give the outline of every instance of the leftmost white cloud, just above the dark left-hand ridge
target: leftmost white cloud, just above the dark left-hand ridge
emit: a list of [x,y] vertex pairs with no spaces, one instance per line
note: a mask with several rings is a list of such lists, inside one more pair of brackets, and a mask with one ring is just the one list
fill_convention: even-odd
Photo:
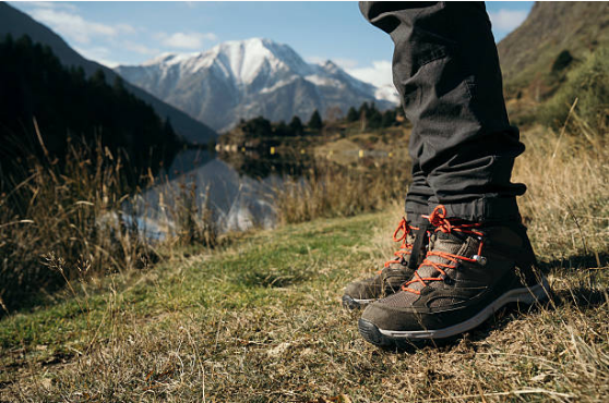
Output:
[[52,8],[40,8],[32,11],[32,16],[67,38],[80,44],[89,44],[92,37],[115,37],[118,34],[132,34],[135,32],[131,25],[116,24],[107,25],[87,21],[67,11],[58,11]]

